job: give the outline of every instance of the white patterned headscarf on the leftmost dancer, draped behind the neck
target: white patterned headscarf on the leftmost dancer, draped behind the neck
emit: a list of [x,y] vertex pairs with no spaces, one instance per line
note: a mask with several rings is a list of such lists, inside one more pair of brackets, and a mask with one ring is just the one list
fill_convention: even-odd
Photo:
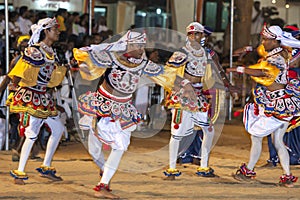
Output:
[[33,24],[31,26],[32,36],[30,37],[28,45],[31,46],[39,41],[42,30],[51,28],[56,25],[58,25],[58,23],[55,17],[40,19],[37,24]]

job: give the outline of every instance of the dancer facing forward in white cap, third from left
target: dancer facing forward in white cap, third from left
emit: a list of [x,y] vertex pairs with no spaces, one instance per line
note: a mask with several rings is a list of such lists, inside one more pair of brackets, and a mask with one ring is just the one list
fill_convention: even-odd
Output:
[[[181,51],[175,52],[167,62],[167,66],[176,68],[180,75],[186,78],[186,83],[192,83],[197,100],[185,101],[181,93],[172,91],[166,98],[166,106],[171,109],[171,139],[169,143],[169,168],[164,171],[167,180],[174,180],[181,172],[176,169],[176,160],[180,141],[183,137],[193,134],[194,126],[201,127],[203,141],[201,147],[201,162],[196,174],[202,177],[214,177],[214,170],[209,167],[208,160],[214,138],[214,126],[208,114],[210,104],[203,93],[203,84],[213,86],[208,80],[207,63],[213,63],[212,51],[206,51],[201,45],[204,38],[204,27],[198,22],[192,22],[186,28],[187,42]],[[222,68],[217,71],[223,81],[228,80]],[[227,81],[228,86],[230,82]],[[208,86],[208,88],[210,88]],[[199,145],[196,143],[196,145]]]

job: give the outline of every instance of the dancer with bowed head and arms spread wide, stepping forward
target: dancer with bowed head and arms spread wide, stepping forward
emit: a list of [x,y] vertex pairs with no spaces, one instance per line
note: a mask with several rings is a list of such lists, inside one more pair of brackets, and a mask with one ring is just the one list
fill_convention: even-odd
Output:
[[[176,70],[160,66],[146,58],[145,43],[145,33],[128,31],[116,42],[74,49],[74,57],[79,63],[83,78],[94,80],[103,77],[96,92],[87,92],[79,97],[79,111],[94,119],[97,117],[95,137],[112,148],[104,164],[101,180],[94,188],[96,197],[119,198],[111,193],[109,184],[128,148],[131,132],[141,119],[131,102],[140,77],[147,75],[168,91],[173,85],[178,85],[177,88],[185,92],[188,100],[195,98],[190,85],[180,87],[180,83],[184,84],[185,81],[176,77]],[[81,120],[80,125],[93,127],[91,121]],[[100,156],[100,152],[98,153]]]

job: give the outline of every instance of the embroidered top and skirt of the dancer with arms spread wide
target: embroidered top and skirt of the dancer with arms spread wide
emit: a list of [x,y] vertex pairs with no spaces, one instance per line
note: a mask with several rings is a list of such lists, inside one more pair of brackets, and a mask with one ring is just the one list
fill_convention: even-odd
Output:
[[[91,64],[89,67],[81,64],[82,77],[93,80],[103,75],[106,83],[114,88],[116,93],[110,94],[102,86],[96,92],[87,92],[78,99],[79,111],[92,117],[111,117],[114,121],[119,120],[122,129],[134,126],[140,120],[132,104],[132,94],[136,91],[142,75],[149,76],[166,88],[172,87],[176,76],[172,70],[145,58],[128,63],[120,60],[114,52],[97,52],[93,49],[75,49],[74,55],[78,61]],[[82,69],[84,67],[87,67],[87,70]]]

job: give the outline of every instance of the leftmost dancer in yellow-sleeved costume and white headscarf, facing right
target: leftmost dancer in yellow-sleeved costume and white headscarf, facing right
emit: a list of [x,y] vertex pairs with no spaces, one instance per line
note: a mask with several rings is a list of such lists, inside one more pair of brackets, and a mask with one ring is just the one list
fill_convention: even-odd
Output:
[[47,123],[52,130],[48,140],[43,164],[36,170],[42,177],[54,181],[62,180],[55,175],[56,170],[51,166],[52,157],[63,133],[63,124],[59,119],[56,106],[47,91],[47,87],[55,87],[64,78],[66,68],[58,65],[58,60],[52,45],[58,41],[59,31],[55,18],[45,18],[31,26],[32,36],[29,47],[8,74],[14,84],[19,87],[15,94],[10,95],[7,104],[10,112],[20,113],[20,131],[25,134],[19,167],[11,170],[16,184],[25,184],[28,179],[25,165],[30,151],[36,141],[40,128]]

